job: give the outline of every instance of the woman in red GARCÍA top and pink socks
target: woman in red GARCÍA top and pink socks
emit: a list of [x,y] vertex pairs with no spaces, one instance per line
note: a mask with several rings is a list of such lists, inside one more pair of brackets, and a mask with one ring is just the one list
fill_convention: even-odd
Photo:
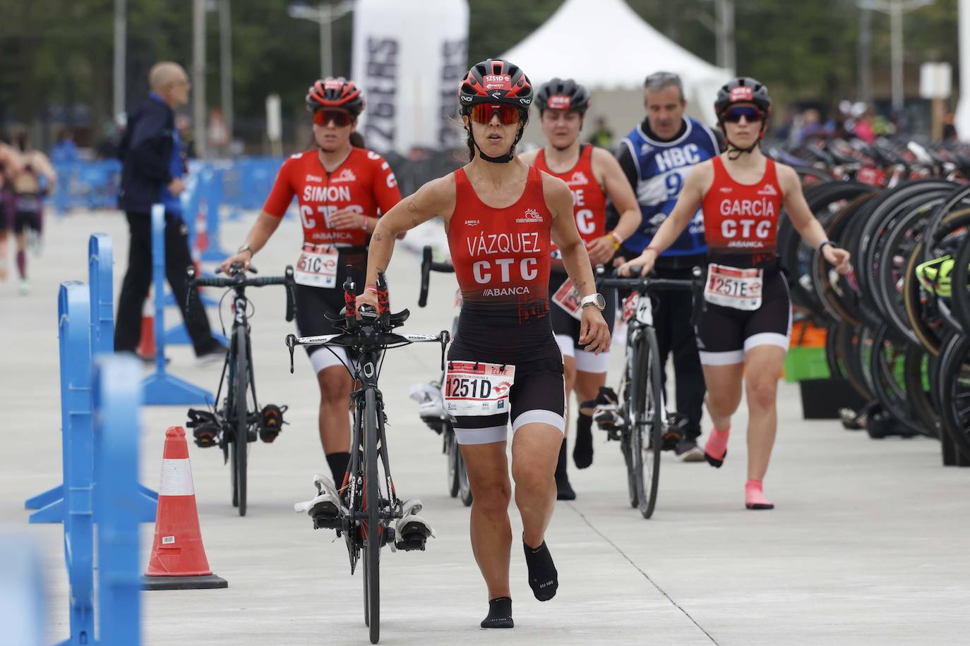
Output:
[[[698,206],[704,211],[709,248],[704,299],[707,310],[696,326],[697,348],[707,384],[707,411],[714,422],[704,447],[720,467],[727,456],[730,416],[748,400],[748,481],[745,506],[770,509],[761,479],[768,469],[778,417],[775,400],[792,333],[792,300],[775,251],[784,206],[802,239],[819,249],[840,273],[849,271],[849,252],[835,247],[801,193],[791,167],[761,154],[771,99],[754,78],[739,77],[718,91],[714,110],[727,138],[727,152],[695,167],[673,212],[643,254],[620,267],[646,274],[687,227]],[[746,377],[745,377],[746,376]]]

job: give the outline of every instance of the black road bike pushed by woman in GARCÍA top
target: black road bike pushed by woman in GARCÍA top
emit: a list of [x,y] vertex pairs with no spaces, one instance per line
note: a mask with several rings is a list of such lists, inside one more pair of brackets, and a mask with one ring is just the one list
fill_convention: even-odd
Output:
[[[704,309],[702,297],[704,279],[699,267],[694,278],[687,280],[653,278],[598,277],[600,288],[631,290],[625,301],[624,319],[628,325],[623,377],[615,393],[608,389],[616,404],[616,416],[600,419],[610,440],[620,442],[627,464],[627,485],[630,507],[638,508],[644,518],[650,518],[657,505],[657,489],[661,477],[661,450],[672,449],[680,439],[673,415],[667,415],[663,404],[663,364],[654,329],[651,292],[658,290],[691,290],[695,294],[695,318]],[[630,309],[628,313],[626,310]],[[598,398],[599,401],[599,398]],[[597,415],[600,417],[600,415]],[[605,422],[605,423],[604,423]]]

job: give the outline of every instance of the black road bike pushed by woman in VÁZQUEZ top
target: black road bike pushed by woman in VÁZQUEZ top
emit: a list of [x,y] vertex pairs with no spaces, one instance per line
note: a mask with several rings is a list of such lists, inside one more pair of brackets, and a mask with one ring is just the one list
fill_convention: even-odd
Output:
[[[387,283],[383,273],[378,275],[378,311],[360,308],[358,320],[354,284],[347,269],[347,281],[343,284],[343,316],[331,319],[342,328],[339,334],[322,336],[286,337],[290,351],[290,372],[293,372],[293,350],[297,346],[343,347],[360,354],[356,363],[344,367],[359,385],[350,398],[353,408],[351,444],[353,450],[344,477],[345,486],[340,488],[340,505],[344,509],[337,529],[342,535],[350,557],[350,573],[353,574],[364,553],[364,622],[371,629],[371,643],[380,638],[380,548],[385,544],[394,549],[424,549],[425,536],[397,537],[393,523],[404,517],[402,500],[398,498],[391,478],[391,465],[387,452],[387,435],[384,413],[384,397],[377,387],[381,358],[385,350],[402,348],[412,343],[438,343],[441,346],[441,369],[444,370],[445,347],[449,334],[398,334],[394,332],[407,321],[410,313],[402,310],[390,313]],[[314,528],[329,525],[313,523]]]

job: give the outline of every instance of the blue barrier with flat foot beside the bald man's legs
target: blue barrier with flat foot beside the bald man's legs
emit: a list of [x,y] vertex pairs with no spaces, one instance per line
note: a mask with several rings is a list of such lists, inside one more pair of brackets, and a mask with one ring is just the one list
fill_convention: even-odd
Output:
[[169,406],[205,404],[212,393],[165,371],[165,207],[151,207],[151,268],[155,290],[155,373],[146,377],[145,403]]

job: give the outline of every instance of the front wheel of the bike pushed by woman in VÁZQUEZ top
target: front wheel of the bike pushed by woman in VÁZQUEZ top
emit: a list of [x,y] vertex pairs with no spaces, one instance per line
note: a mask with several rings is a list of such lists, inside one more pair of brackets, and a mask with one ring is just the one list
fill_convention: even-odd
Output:
[[364,411],[364,492],[367,528],[364,545],[364,591],[367,625],[371,643],[380,639],[380,474],[377,471],[377,402],[373,388],[365,392]]

